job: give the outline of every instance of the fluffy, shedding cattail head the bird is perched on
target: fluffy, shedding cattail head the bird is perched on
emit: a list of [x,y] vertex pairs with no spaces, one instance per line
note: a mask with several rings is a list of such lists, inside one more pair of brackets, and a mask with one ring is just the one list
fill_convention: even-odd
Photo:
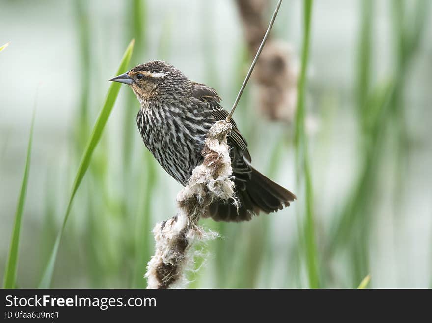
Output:
[[216,200],[237,205],[226,143],[231,129],[231,123],[226,121],[218,121],[210,128],[202,150],[204,161],[177,195],[177,215],[153,229],[156,250],[145,274],[148,288],[185,286],[185,272],[193,265],[195,245],[217,236],[198,226],[198,220]]

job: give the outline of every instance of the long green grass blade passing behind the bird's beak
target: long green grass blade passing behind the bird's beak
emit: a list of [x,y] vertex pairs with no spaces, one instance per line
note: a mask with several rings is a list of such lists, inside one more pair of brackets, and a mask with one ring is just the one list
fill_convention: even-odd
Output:
[[[129,61],[130,61],[131,56],[132,56],[132,51],[134,48],[134,42],[135,41],[132,40],[129,43],[129,46],[127,47],[127,49],[123,55],[123,58],[120,62],[120,66],[119,66],[117,73],[115,75],[124,73],[126,71],[126,68],[129,64]],[[70,214],[70,211],[72,208],[72,202],[74,200],[75,193],[77,192],[78,187],[81,184],[81,180],[84,177],[84,175],[88,169],[88,166],[90,165],[92,154],[93,154],[96,146],[98,145],[99,140],[101,139],[102,132],[104,131],[105,125],[108,121],[108,117],[109,117],[111,110],[114,106],[115,100],[117,99],[117,95],[118,95],[118,92],[120,90],[120,86],[121,86],[121,84],[117,83],[117,82],[112,82],[111,85],[109,86],[108,94],[107,94],[107,97],[105,99],[104,106],[103,106],[101,112],[99,113],[98,118],[96,119],[96,123],[93,126],[93,130],[90,134],[90,138],[87,142],[87,146],[85,147],[84,153],[82,155],[80,166],[78,167],[78,172],[77,172],[77,175],[75,176],[74,184],[72,185],[72,191],[71,191],[69,203],[68,203],[68,206],[66,209],[66,214],[65,214],[64,219],[63,219],[63,224],[61,226],[60,231],[58,232],[57,238],[56,238],[55,243],[54,243],[53,250],[52,250],[51,255],[50,255],[50,259],[48,261],[48,264],[45,267],[42,280],[39,284],[39,288],[48,288],[50,286],[51,278],[53,276],[55,259],[57,256],[58,247],[60,245],[61,236],[63,235],[64,228],[66,226],[66,222],[67,222],[67,219],[69,217],[69,214]]]

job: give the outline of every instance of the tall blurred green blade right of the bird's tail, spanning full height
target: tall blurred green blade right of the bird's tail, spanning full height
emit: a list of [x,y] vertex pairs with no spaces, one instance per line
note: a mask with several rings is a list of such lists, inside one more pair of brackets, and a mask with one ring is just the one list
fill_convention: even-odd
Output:
[[[312,0],[304,1],[303,16],[303,48],[301,59],[301,71],[298,82],[298,102],[295,118],[295,145],[296,145],[296,164],[297,174],[304,173],[305,180],[305,210],[306,217],[304,221],[304,242],[306,251],[306,267],[311,288],[319,288],[318,256],[315,242],[315,223],[313,211],[313,186],[312,176],[309,166],[309,156],[307,149],[307,134],[305,131],[305,96],[306,96],[306,76],[309,59],[310,47],[310,29],[312,16]],[[301,172],[302,171],[302,172]]]

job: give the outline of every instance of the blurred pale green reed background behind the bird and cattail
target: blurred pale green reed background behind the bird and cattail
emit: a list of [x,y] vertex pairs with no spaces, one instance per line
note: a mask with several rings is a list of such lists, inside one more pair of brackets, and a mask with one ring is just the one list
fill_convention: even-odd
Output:
[[[204,247],[191,287],[348,288],[368,274],[370,287],[432,286],[431,14],[429,0],[283,1],[273,35],[300,66],[309,55],[300,110],[291,123],[267,121],[252,79],[234,118],[254,166],[297,201],[247,223],[202,220],[223,238]],[[11,41],[0,53],[0,276],[37,106],[17,287],[41,281],[108,79],[132,38],[129,68],[166,60],[216,88],[226,109],[251,60],[234,0],[0,1],[0,45]],[[52,287],[146,286],[151,229],[175,214],[181,187],[141,142],[138,108],[122,87]]]

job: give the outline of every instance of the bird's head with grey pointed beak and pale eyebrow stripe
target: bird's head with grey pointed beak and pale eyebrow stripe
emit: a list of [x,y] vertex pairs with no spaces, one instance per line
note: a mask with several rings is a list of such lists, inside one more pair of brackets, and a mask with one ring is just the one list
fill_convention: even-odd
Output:
[[185,80],[187,78],[174,66],[154,60],[138,65],[109,81],[131,86],[136,98],[142,102],[181,89]]

